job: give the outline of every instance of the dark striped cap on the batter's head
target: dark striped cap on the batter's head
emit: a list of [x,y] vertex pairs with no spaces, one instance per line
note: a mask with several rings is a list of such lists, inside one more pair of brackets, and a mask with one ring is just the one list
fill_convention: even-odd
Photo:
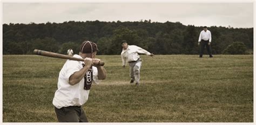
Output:
[[97,44],[91,41],[84,41],[80,46],[81,53],[93,53],[98,50]]

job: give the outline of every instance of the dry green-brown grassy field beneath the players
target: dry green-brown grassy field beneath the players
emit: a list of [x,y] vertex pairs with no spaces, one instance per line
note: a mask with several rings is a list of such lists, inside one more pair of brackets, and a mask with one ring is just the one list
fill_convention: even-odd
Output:
[[[89,122],[253,122],[253,55],[142,55],[141,85],[120,55],[83,106]],[[3,122],[57,122],[52,99],[65,60],[3,55]]]

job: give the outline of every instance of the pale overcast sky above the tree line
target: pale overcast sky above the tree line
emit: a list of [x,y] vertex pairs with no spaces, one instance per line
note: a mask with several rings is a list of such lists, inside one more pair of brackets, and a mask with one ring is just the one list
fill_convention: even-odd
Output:
[[180,22],[195,26],[253,27],[253,3],[3,3],[3,23]]

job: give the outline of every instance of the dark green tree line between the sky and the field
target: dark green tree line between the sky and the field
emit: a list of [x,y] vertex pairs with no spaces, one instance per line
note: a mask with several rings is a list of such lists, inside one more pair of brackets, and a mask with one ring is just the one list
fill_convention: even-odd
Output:
[[[3,54],[32,54],[34,49],[66,54],[69,48],[78,54],[84,40],[97,43],[97,54],[120,54],[122,40],[154,54],[199,54],[201,30],[203,26],[151,20],[10,23],[3,24]],[[211,26],[208,30],[213,54],[253,54],[253,28]]]

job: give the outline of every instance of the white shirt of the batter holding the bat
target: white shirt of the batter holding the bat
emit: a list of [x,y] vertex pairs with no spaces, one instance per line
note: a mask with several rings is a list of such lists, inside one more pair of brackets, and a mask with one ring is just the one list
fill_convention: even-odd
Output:
[[[76,58],[82,58],[80,55],[73,55]],[[69,84],[69,77],[83,68],[83,61],[67,60],[62,70],[59,72],[58,90],[55,92],[52,104],[56,108],[68,106],[82,106],[89,96],[90,90],[84,89],[84,78],[76,85]],[[97,67],[92,66],[92,84],[99,84]]]

